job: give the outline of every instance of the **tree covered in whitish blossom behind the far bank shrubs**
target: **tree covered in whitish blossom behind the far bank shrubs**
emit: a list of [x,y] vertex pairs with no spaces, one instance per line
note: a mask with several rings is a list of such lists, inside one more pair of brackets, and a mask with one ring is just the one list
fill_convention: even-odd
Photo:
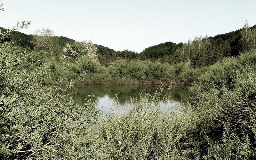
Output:
[[86,56],[94,61],[98,60],[97,47],[92,44],[92,40],[67,43],[66,47],[63,48],[65,52],[65,58],[79,58]]

